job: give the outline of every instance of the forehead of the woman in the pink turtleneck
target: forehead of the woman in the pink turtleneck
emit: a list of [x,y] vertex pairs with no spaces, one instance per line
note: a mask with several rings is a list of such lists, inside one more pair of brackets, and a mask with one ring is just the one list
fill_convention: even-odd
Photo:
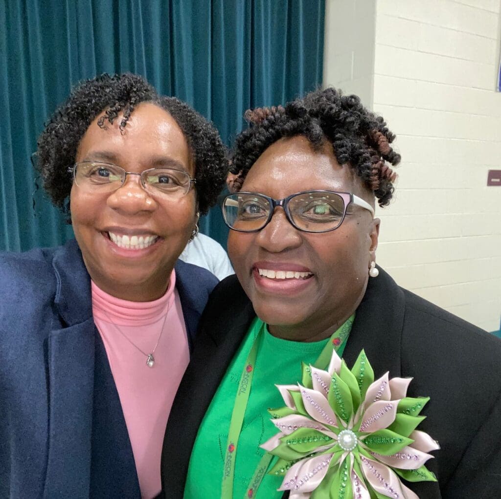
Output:
[[138,105],[127,125],[120,130],[123,114],[112,124],[98,125],[101,113],[89,125],[80,141],[76,160],[111,161],[124,168],[132,163],[161,163],[162,158],[181,163],[190,173],[193,166],[186,137],[172,116],[151,103]]

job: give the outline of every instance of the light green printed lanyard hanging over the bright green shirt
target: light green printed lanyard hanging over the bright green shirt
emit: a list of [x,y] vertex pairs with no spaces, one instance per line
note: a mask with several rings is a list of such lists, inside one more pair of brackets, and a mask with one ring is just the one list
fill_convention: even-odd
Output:
[[[327,344],[324,346],[319,357],[313,364],[314,367],[318,369],[326,368],[332,357],[333,350],[336,350],[339,355],[343,354],[343,350],[346,346],[346,341],[350,334],[351,325],[355,314],[353,314],[329,339]],[[347,327],[348,326],[348,327]],[[247,355],[247,359],[243,366],[242,374],[240,376],[240,382],[238,383],[238,389],[235,396],[235,403],[233,406],[233,412],[231,414],[231,421],[229,423],[228,440],[226,442],[226,450],[224,455],[223,464],[223,475],[222,475],[222,486],[221,486],[221,499],[232,499],[233,497],[233,478],[235,472],[235,461],[236,461],[236,451],[238,448],[238,439],[240,437],[240,432],[242,429],[243,418],[245,416],[245,410],[247,408],[247,402],[250,394],[250,387],[252,386],[252,380],[254,377],[254,371],[256,369],[256,357],[258,354],[259,338],[265,329],[265,324],[259,318],[256,318],[252,327],[251,334],[255,334],[254,342],[250,352]],[[258,487],[263,480],[270,462],[273,459],[273,455],[265,452],[261,460],[259,461],[258,467],[254,472],[253,477],[250,479],[250,483],[247,487],[247,493],[245,498],[253,497]]]

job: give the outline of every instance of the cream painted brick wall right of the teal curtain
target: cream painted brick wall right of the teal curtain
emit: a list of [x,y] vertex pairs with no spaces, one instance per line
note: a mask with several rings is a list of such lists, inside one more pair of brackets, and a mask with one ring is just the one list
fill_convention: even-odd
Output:
[[[367,14],[373,28],[362,31]],[[378,262],[400,285],[489,331],[501,315],[501,189],[486,187],[487,170],[501,169],[499,17],[499,0],[327,0],[324,59],[324,84],[361,89],[398,136],[395,200],[377,210]]]

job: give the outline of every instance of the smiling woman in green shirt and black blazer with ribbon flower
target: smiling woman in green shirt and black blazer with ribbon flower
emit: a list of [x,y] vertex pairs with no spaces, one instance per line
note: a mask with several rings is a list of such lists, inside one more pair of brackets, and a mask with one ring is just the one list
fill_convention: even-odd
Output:
[[501,343],[375,265],[400,161],[384,120],[334,89],[246,118],[222,206],[236,276],[172,407],[165,497],[501,496]]

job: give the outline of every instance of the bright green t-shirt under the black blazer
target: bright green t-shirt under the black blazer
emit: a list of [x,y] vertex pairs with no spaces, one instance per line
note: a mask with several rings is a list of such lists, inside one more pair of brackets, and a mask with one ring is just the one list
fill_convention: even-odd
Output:
[[[259,320],[259,319],[256,319]],[[337,331],[343,339],[353,324],[350,317]],[[191,453],[185,499],[217,499],[221,495],[223,462],[228,438],[229,423],[235,401],[236,390],[247,355],[253,346],[256,321],[231,361],[219,388],[198,429]],[[256,330],[256,329],[255,329]],[[259,330],[259,329],[258,329]],[[256,357],[254,379],[245,410],[242,430],[238,439],[233,482],[234,499],[246,497],[247,486],[253,477],[258,463],[266,452],[260,445],[277,433],[276,426],[270,421],[268,408],[285,405],[275,384],[295,384],[301,381],[301,362],[313,364],[322,352],[329,338],[313,343],[289,341],[272,336],[265,327],[259,338],[260,344]],[[346,341],[338,348],[343,353]],[[327,368],[327,366],[322,366]],[[253,499],[274,499],[282,497],[283,476],[266,474]]]

